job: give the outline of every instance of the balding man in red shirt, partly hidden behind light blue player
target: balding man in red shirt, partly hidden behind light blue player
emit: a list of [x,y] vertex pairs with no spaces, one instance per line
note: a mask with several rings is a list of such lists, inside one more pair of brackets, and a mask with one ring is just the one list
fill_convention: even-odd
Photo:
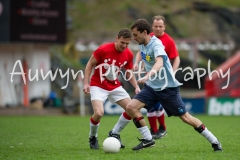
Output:
[[[173,71],[176,71],[180,64],[179,54],[174,43],[174,40],[165,32],[165,18],[161,15],[154,16],[152,18],[152,31],[150,36],[155,35],[165,47],[165,52],[171,61]],[[134,70],[138,70],[139,62],[141,61],[140,52],[136,54],[136,60],[134,64]],[[160,103],[156,103],[153,108],[147,111],[148,122],[150,125],[150,131],[154,139],[162,138],[167,135],[164,110]],[[159,128],[157,126],[159,123]]]

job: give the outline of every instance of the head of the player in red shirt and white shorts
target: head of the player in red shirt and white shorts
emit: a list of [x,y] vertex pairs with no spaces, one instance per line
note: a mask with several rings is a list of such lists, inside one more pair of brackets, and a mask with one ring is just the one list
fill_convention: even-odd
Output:
[[115,48],[117,49],[117,51],[119,52],[124,51],[128,47],[131,38],[132,33],[129,29],[127,28],[121,29],[116,37]]

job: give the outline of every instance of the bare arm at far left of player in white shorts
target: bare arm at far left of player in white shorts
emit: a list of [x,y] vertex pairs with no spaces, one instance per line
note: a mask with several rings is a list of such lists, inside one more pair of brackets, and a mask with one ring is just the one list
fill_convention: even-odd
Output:
[[89,86],[89,79],[90,79],[90,75],[92,73],[92,69],[94,66],[96,66],[97,64],[97,60],[96,58],[92,55],[90,57],[90,59],[88,60],[87,66],[85,68],[85,73],[84,73],[84,88],[83,91],[85,93],[90,93],[90,86]]

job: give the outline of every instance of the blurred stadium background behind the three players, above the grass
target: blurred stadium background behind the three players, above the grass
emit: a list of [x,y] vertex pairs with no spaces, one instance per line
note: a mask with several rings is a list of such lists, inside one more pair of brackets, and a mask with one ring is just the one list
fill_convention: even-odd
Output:
[[[90,115],[90,97],[77,73],[121,28],[155,15],[166,18],[166,33],[178,48],[182,70],[176,78],[189,112],[239,116],[238,0],[0,0],[1,115]],[[129,48],[139,49],[134,41]],[[133,96],[132,86],[122,84]],[[104,107],[106,114],[122,112],[108,101]]]

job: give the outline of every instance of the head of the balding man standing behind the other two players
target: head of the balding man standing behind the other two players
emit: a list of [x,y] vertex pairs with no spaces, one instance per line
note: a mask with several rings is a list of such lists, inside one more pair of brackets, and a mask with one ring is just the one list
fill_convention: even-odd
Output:
[[156,37],[163,35],[166,29],[165,18],[163,16],[157,15],[152,18],[152,30]]

